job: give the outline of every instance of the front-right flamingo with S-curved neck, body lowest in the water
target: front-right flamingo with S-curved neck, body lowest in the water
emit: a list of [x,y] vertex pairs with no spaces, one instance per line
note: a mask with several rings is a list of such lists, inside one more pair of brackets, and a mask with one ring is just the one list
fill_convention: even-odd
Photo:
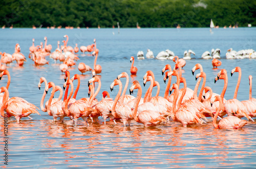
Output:
[[214,120],[212,120],[212,123],[214,125],[215,128],[230,128],[230,129],[240,129],[242,127],[244,127],[248,121],[246,120],[241,120],[239,119],[238,117],[234,117],[234,116],[228,116],[228,117],[225,117],[223,118],[219,124],[216,123],[217,121],[217,117],[219,115],[219,112],[223,106],[223,101],[222,101],[222,98],[220,96],[215,96],[214,98],[211,99],[211,104],[215,101],[219,101],[220,104],[219,104],[219,107],[218,107],[218,110],[214,116]]

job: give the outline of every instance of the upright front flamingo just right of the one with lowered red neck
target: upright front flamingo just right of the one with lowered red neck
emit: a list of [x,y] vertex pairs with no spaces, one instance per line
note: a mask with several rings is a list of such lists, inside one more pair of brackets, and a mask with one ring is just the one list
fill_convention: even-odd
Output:
[[119,79],[115,79],[113,83],[110,85],[110,90],[113,91],[114,86],[119,86],[119,91],[116,95],[116,98],[114,100],[114,104],[112,105],[112,115],[115,118],[122,119],[124,127],[126,127],[126,122],[128,123],[128,126],[131,124],[131,120],[133,120],[133,111],[132,107],[124,104],[122,101],[117,104],[119,97],[121,96],[122,92],[122,83]]

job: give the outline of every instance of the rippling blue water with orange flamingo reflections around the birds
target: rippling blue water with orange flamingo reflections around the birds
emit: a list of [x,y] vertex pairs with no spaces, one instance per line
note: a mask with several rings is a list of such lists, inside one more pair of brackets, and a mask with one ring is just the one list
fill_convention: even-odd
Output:
[[[238,99],[248,100],[249,85],[248,76],[254,76],[253,59],[226,60],[221,59],[220,69],[212,69],[211,60],[202,60],[201,54],[211,48],[220,48],[221,57],[225,58],[226,50],[232,47],[234,50],[253,48],[256,43],[256,29],[215,29],[214,34],[209,33],[209,29],[121,29],[118,34],[117,29],[74,29],[74,30],[47,30],[47,29],[5,29],[0,30],[0,51],[12,54],[16,43],[19,43],[21,52],[27,57],[27,62],[23,67],[16,67],[10,64],[8,70],[11,74],[11,85],[9,88],[10,97],[23,97],[27,101],[40,106],[40,99],[44,90],[38,90],[37,84],[41,76],[53,81],[55,85],[63,85],[63,75],[54,64],[37,67],[28,59],[29,47],[32,45],[32,38],[35,45],[44,42],[47,36],[48,44],[52,44],[53,49],[57,47],[57,41],[65,40],[63,35],[69,35],[68,45],[78,46],[89,45],[93,39],[97,40],[99,57],[97,64],[102,66],[101,90],[108,91],[112,98],[118,92],[118,87],[110,92],[110,84],[121,72],[130,74],[130,57],[136,56],[139,50],[149,48],[156,56],[158,52],[170,49],[179,57],[183,57],[184,50],[191,49],[196,55],[186,62],[183,68],[184,76],[187,80],[187,87],[194,89],[196,80],[191,74],[191,69],[195,64],[200,63],[207,75],[206,86],[212,88],[216,93],[221,93],[223,80],[214,83],[214,77],[225,68],[228,72],[228,88],[225,94],[226,99],[233,97],[236,88],[238,73],[231,77],[230,71],[236,66],[242,69],[242,80],[238,92]],[[253,48],[255,50],[255,48]],[[53,51],[53,50],[52,50]],[[93,57],[81,57],[77,62],[84,62],[93,67]],[[163,96],[165,84],[161,75],[162,68],[172,61],[159,61],[155,59],[137,60],[135,66],[138,68],[137,76],[130,78],[130,85],[133,80],[139,80],[142,84],[142,77],[147,70],[155,73],[155,78],[159,81]],[[77,67],[71,68],[71,75],[81,74]],[[199,70],[195,72],[199,73]],[[77,98],[88,97],[87,81],[91,78],[91,73],[81,77],[81,86]],[[254,79],[253,79],[254,80]],[[124,83],[125,80],[121,79]],[[5,86],[7,77],[0,81],[1,86]],[[175,82],[175,78],[173,81]],[[76,82],[74,83],[76,86]],[[143,93],[146,87],[142,87]],[[42,89],[44,89],[42,84]],[[96,85],[97,87],[97,85]],[[253,82],[253,89],[255,89]],[[156,91],[153,90],[153,95]],[[129,94],[129,91],[126,92]],[[137,92],[134,92],[136,96]],[[46,97],[49,99],[50,95]],[[252,92],[252,97],[255,92]],[[96,97],[101,99],[99,94]],[[41,116],[31,115],[33,120],[23,118],[20,124],[16,124],[15,119],[9,119],[9,161],[8,166],[1,161],[2,167],[19,168],[171,168],[171,167],[207,167],[207,168],[251,168],[256,166],[255,162],[255,123],[247,124],[241,130],[219,130],[214,129],[212,123],[194,125],[188,128],[182,127],[176,122],[157,127],[144,127],[133,121],[131,127],[123,127],[121,122],[117,125],[113,121],[103,123],[103,118],[99,117],[97,122],[89,121],[86,125],[81,118],[77,127],[65,119],[64,123],[53,122],[53,118],[47,112],[39,111]],[[209,119],[210,120],[210,119]],[[211,121],[211,120],[210,120]],[[1,136],[4,136],[4,125],[1,123]],[[4,144],[1,150],[4,155]],[[3,165],[2,165],[3,164]]]

